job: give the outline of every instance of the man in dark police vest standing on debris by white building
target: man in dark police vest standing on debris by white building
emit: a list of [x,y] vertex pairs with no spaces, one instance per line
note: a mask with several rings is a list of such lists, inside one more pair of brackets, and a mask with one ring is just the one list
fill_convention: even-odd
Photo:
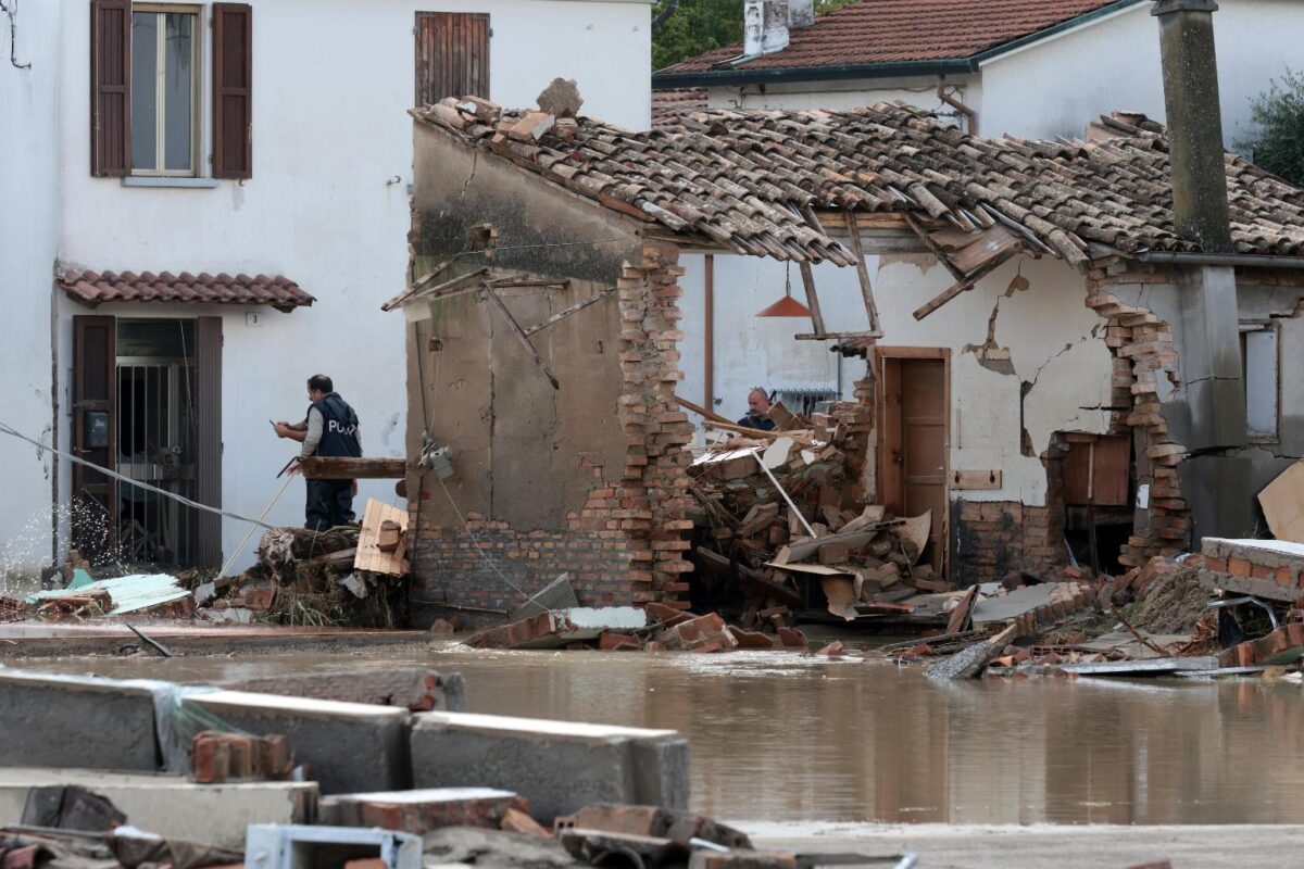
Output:
[[[363,435],[357,426],[357,414],[344,399],[335,392],[335,384],[325,374],[308,378],[308,416],[303,422],[274,423],[278,438],[303,442],[299,459],[291,465],[289,473],[299,473],[299,461],[308,456],[352,456],[363,455]],[[357,494],[356,479],[309,479],[308,506],[304,511],[304,528],[323,532],[336,525],[353,521],[353,495]]]

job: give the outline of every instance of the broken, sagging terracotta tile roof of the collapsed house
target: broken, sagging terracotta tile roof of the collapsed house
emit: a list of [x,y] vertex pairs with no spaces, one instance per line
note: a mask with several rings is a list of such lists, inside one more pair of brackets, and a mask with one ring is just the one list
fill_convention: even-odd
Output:
[[[412,115],[613,211],[743,254],[854,263],[815,214],[844,208],[965,231],[1000,223],[1080,267],[1089,242],[1128,254],[1198,250],[1174,229],[1166,139],[1121,120],[1102,120],[1112,137],[1103,141],[1035,142],[970,137],[888,104],[712,109],[643,133],[589,119],[552,126],[537,112],[486,117],[482,102],[477,116],[471,106],[446,100]],[[1232,155],[1227,186],[1237,253],[1304,253],[1304,192]]]

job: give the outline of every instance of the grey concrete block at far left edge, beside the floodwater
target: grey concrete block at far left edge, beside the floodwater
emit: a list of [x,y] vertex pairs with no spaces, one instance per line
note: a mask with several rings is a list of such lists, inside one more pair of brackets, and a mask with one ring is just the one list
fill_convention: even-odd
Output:
[[164,687],[0,667],[0,766],[156,771],[154,692]]

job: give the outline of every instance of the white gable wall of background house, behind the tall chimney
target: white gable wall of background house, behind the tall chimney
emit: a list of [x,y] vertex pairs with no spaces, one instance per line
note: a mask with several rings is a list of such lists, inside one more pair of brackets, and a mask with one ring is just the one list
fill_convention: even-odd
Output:
[[[1287,66],[1304,69],[1304,3],[1221,0],[1214,13],[1223,141],[1245,137],[1249,100]],[[982,68],[981,129],[990,135],[1080,138],[1086,124],[1112,111],[1163,121],[1159,23],[1142,3]]]

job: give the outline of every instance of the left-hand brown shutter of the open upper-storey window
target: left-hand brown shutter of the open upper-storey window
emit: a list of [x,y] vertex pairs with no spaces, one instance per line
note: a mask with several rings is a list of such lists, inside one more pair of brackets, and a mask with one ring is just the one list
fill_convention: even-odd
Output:
[[132,171],[132,4],[90,4],[90,173]]

